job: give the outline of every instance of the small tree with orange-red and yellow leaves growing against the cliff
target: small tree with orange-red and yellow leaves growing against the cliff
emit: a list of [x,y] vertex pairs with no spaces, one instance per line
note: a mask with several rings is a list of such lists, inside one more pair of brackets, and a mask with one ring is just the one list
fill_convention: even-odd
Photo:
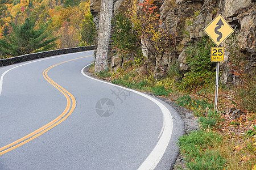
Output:
[[[176,58],[176,28],[171,32],[167,27],[167,21],[160,18],[160,9],[155,5],[156,1],[145,0],[139,3],[141,6],[141,40],[144,56],[151,58],[154,56],[156,67],[154,74],[166,74],[168,66],[164,66],[157,58],[162,58],[164,53],[174,53]],[[147,52],[149,52],[147,54]],[[154,61],[153,59],[153,61]]]

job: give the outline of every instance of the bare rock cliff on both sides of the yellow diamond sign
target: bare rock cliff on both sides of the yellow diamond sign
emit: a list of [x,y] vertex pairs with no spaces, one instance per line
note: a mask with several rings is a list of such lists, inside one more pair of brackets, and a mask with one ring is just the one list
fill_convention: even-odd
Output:
[[[251,0],[176,0],[176,5],[171,3],[171,0],[164,1],[161,6],[160,14],[162,19],[166,19],[168,29],[177,31],[177,41],[184,48],[178,49],[179,57],[177,58],[181,73],[188,71],[189,67],[186,64],[185,45],[189,39],[199,39],[205,36],[203,29],[215,18],[217,14],[222,14],[224,18],[236,27],[238,31],[237,39],[240,48],[247,54],[247,59],[250,60],[250,65],[255,67],[255,1]],[[196,15],[197,14],[197,15]],[[181,31],[182,30],[182,31]],[[186,32],[187,35],[184,34]],[[224,44],[222,44],[224,45]],[[226,47],[226,45],[225,45]],[[225,48],[225,50],[228,48]],[[168,54],[169,58],[175,59],[176,56]],[[158,61],[160,64],[161,61]],[[162,61],[165,62],[165,61]],[[225,51],[225,62],[221,63],[221,83],[230,83],[236,81],[236,76],[230,74],[229,52]],[[170,63],[169,63],[170,65]]]

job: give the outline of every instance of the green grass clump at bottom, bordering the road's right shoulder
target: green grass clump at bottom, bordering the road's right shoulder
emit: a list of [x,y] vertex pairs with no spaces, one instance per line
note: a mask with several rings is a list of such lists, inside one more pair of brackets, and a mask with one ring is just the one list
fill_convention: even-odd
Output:
[[216,151],[221,135],[213,131],[193,131],[179,139],[180,150],[185,156],[188,169],[224,169],[225,159]]

